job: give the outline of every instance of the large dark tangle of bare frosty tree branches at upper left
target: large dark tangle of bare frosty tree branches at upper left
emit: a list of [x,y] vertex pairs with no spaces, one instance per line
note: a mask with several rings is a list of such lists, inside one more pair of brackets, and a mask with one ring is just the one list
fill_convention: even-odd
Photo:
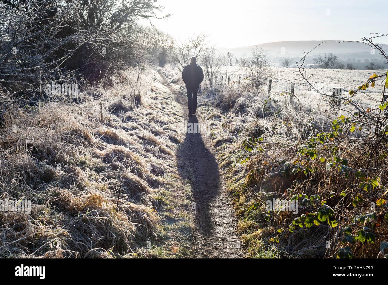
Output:
[[156,2],[0,0],[0,87],[35,95],[65,73],[92,82],[127,66],[138,35],[133,23],[156,18]]

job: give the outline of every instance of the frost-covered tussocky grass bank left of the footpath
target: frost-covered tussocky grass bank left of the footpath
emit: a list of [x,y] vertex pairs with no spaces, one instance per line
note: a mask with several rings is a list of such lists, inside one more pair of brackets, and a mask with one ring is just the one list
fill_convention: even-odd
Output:
[[0,212],[1,257],[187,254],[190,189],[175,162],[182,114],[154,69],[137,76],[116,74],[81,104],[14,105],[3,116],[0,197],[32,207]]

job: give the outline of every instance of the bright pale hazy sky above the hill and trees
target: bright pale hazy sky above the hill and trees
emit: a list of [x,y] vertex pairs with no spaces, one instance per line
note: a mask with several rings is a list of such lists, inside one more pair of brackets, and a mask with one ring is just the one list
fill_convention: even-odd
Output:
[[182,40],[204,32],[217,47],[358,40],[388,32],[387,4],[387,0],[159,0],[164,14],[172,16],[154,24]]

